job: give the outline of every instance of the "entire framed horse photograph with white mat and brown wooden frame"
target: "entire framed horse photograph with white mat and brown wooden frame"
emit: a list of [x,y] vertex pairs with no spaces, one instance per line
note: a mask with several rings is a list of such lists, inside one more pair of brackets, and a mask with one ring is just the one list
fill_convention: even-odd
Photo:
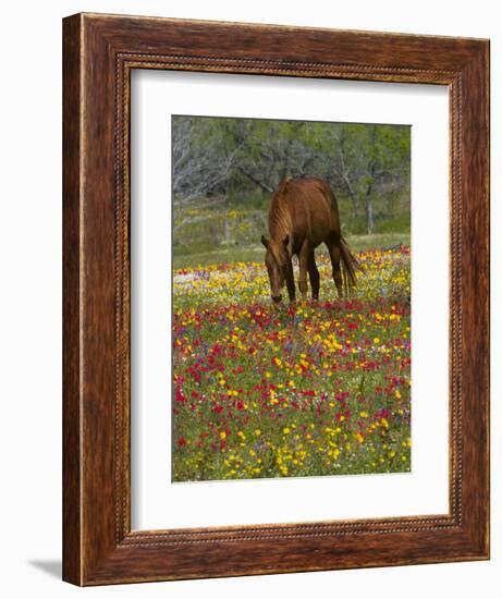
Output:
[[489,42],[63,22],[63,578],[489,558]]

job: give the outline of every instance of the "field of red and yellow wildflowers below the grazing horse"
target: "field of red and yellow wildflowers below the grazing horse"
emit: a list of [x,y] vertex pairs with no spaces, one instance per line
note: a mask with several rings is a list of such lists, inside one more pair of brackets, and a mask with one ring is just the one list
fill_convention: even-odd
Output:
[[173,480],[411,469],[409,249],[338,300],[270,303],[262,262],[173,273]]

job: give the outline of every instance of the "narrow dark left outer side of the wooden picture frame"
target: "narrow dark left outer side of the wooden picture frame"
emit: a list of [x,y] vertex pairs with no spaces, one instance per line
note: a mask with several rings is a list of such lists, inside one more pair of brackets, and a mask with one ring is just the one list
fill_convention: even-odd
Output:
[[81,584],[79,20],[63,32],[63,577]]

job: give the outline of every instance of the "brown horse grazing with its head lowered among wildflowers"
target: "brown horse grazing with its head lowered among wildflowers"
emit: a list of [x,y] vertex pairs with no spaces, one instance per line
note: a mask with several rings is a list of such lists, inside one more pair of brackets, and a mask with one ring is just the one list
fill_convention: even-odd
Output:
[[321,243],[330,254],[339,296],[355,285],[356,271],[362,268],[342,237],[339,208],[329,183],[317,178],[284,178],[272,196],[268,223],[270,240],[264,235],[261,243],[267,248],[265,264],[276,304],[281,302],[284,282],[290,302],[295,301],[293,255],[298,257],[298,288],[303,300],[307,295],[307,272],[313,298],[319,298],[319,271],[314,250]]

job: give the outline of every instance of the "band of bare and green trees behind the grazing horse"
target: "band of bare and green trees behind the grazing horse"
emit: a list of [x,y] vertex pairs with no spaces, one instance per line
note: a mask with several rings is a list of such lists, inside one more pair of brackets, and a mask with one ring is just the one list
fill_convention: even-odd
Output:
[[[175,201],[273,192],[284,174],[327,179],[353,218],[375,230],[375,198],[408,196],[409,127],[400,125],[174,117]],[[381,203],[380,203],[381,206]]]

